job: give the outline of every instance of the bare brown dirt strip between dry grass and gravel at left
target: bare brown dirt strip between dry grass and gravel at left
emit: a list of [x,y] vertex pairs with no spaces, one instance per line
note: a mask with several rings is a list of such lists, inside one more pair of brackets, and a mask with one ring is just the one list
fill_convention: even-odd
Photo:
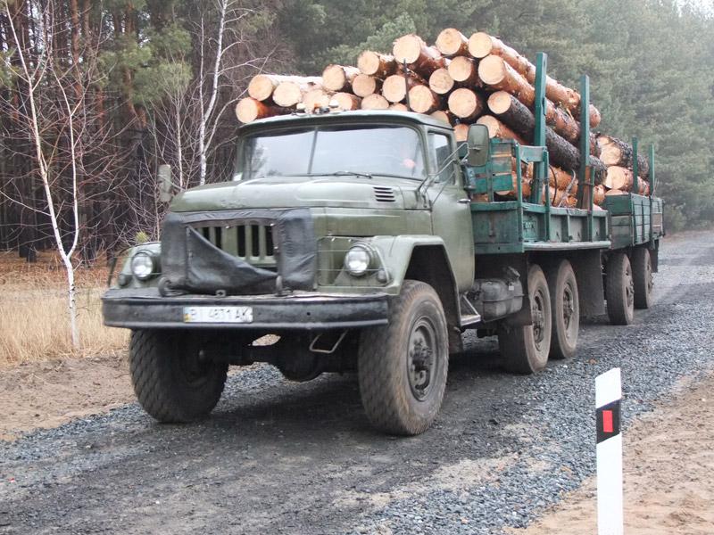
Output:
[[0,370],[0,440],[57,427],[134,399],[125,358],[63,358]]

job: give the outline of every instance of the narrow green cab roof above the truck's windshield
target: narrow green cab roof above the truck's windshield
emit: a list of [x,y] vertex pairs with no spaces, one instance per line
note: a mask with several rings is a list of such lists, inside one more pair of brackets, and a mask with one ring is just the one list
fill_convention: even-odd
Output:
[[267,119],[258,119],[240,127],[240,131],[253,130],[261,127],[278,126],[298,126],[298,125],[322,125],[332,122],[348,123],[409,123],[414,125],[424,125],[434,128],[448,128],[450,125],[444,121],[434,119],[423,113],[413,111],[393,111],[393,110],[359,110],[359,111],[328,111],[325,113],[290,113],[289,115],[277,115]]

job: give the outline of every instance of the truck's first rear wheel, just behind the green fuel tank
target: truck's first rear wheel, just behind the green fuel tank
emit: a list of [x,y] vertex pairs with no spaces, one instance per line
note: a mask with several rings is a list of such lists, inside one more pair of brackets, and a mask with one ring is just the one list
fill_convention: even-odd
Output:
[[514,374],[534,374],[542,370],[551,350],[551,294],[543,269],[536,264],[528,269],[528,300],[532,325],[502,324],[498,329],[503,367]]

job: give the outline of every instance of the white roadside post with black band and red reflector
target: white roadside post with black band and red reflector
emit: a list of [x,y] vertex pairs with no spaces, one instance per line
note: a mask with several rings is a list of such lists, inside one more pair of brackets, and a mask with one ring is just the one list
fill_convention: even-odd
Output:
[[595,377],[597,428],[597,532],[623,535],[620,369]]

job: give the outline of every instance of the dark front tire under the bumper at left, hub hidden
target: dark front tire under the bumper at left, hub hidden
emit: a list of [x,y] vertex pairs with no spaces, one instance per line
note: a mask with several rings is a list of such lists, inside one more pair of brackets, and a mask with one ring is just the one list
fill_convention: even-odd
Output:
[[137,399],[160,422],[199,420],[212,411],[228,364],[200,358],[186,333],[132,331],[129,370]]

